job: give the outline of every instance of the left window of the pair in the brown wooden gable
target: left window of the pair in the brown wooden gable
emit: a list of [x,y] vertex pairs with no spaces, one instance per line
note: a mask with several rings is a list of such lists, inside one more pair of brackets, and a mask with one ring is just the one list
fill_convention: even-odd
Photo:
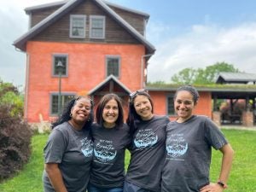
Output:
[[85,15],[70,15],[70,38],[85,38]]

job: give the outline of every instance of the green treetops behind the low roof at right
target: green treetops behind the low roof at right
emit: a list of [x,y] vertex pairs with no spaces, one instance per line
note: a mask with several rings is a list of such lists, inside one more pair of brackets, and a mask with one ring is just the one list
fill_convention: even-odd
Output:
[[226,62],[217,62],[205,69],[202,68],[184,68],[172,76],[172,82],[175,84],[214,84],[218,73],[220,72],[239,72],[232,64]]

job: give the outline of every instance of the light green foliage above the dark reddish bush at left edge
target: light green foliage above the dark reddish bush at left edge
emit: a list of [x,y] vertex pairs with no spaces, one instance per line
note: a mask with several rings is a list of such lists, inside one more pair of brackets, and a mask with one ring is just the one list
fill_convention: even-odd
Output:
[[9,105],[12,116],[23,116],[24,96],[13,84],[0,80],[0,105]]

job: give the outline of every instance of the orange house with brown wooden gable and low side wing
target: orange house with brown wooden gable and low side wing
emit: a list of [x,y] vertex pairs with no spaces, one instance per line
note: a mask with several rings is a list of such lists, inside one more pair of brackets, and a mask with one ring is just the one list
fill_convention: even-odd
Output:
[[[90,95],[97,103],[109,92],[123,99],[127,115],[129,94],[142,88],[153,97],[155,113],[176,118],[177,85],[146,84],[148,60],[155,51],[145,38],[148,14],[102,0],[47,3],[25,11],[30,28],[14,45],[26,53],[25,119],[29,123],[54,120],[73,96]],[[214,106],[212,112],[212,101],[236,95],[235,88],[198,90],[201,101],[195,113],[216,122],[220,114],[214,113]],[[241,90],[240,95],[254,99],[255,90],[249,95]]]

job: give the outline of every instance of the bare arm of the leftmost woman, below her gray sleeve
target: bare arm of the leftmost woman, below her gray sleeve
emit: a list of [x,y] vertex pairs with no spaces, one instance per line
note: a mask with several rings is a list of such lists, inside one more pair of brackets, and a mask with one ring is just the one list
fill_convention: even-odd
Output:
[[57,163],[46,163],[44,169],[48,174],[49,181],[56,192],[67,192],[62,179],[61,170]]

